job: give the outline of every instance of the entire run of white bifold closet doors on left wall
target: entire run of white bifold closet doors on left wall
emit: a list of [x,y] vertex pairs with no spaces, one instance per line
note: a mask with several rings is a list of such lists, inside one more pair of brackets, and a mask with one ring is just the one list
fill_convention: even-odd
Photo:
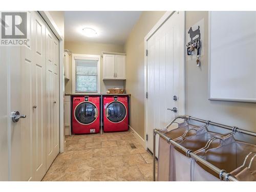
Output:
[[[37,12],[28,14],[30,41],[21,48],[20,68],[21,111],[27,115],[19,121],[22,126],[20,180],[40,181],[59,153],[58,39]],[[51,46],[47,43],[49,34]]]

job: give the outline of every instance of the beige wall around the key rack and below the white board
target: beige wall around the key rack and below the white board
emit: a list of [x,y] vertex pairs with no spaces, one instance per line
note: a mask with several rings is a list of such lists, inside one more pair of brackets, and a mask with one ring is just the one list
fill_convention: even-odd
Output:
[[195,59],[186,56],[186,113],[256,132],[256,103],[208,100],[208,12],[186,12],[186,29],[201,19],[205,25],[201,68]]

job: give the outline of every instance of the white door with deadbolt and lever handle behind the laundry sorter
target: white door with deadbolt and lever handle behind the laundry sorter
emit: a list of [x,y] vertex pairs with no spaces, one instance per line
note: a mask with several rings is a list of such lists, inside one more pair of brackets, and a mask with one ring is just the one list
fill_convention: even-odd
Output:
[[[153,152],[153,129],[184,113],[184,12],[175,12],[146,42],[146,146]],[[174,96],[178,100],[173,99]],[[177,113],[170,109],[177,108]],[[156,140],[158,156],[158,137]]]

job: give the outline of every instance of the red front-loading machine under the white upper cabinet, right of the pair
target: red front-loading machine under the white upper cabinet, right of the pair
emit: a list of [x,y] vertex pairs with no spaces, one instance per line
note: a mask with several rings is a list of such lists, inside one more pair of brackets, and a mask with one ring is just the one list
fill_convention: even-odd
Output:
[[129,129],[127,96],[103,96],[103,107],[104,132],[121,132]]

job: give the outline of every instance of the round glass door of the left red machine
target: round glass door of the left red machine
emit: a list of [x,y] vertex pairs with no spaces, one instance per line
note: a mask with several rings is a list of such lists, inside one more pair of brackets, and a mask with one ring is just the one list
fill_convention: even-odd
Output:
[[90,124],[98,117],[98,110],[91,102],[82,102],[75,109],[75,118],[79,123]]

